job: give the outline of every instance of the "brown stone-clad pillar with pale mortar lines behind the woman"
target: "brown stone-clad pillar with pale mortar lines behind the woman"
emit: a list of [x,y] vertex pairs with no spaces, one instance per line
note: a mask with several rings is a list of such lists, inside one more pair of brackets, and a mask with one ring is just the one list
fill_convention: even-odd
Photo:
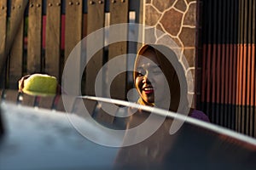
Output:
[[150,37],[155,42],[167,44],[168,38],[176,42],[184,70],[194,80],[188,79],[189,87],[193,87],[189,88],[189,97],[195,94],[196,3],[195,0],[144,0],[145,34],[153,35]]

